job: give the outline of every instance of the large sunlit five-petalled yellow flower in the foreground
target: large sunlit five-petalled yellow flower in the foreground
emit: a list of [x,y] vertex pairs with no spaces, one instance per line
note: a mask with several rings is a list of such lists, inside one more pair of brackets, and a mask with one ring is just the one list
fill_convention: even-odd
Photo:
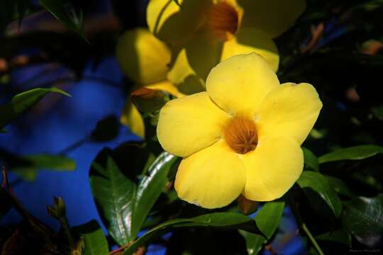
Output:
[[220,208],[242,193],[257,201],[281,197],[303,169],[300,145],[322,103],[310,84],[279,84],[255,53],[213,68],[206,92],[169,101],[157,137],[183,157],[175,180],[179,198]]

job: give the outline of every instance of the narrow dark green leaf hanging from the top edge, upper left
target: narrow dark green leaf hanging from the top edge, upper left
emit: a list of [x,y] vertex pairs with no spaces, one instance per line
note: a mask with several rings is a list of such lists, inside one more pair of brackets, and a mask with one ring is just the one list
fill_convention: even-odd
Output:
[[[39,0],[41,6],[52,13],[58,21],[63,23],[67,28],[78,33],[84,40],[87,40],[84,34],[84,22],[82,12],[76,13],[70,9],[67,4],[61,0]],[[88,42],[89,43],[89,42]]]

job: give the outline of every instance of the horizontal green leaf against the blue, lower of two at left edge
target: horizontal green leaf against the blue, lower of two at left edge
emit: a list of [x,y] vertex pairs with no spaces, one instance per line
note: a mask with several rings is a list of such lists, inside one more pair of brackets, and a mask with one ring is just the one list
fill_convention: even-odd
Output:
[[20,157],[21,164],[11,168],[19,176],[26,181],[35,181],[38,170],[53,170],[53,171],[73,171],[76,169],[76,162],[62,156],[38,154]]

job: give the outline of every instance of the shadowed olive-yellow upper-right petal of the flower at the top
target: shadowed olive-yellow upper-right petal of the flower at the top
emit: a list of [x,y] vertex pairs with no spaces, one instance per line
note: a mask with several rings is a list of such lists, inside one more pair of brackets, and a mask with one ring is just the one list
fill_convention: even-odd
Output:
[[306,0],[237,0],[243,8],[242,27],[265,31],[272,38],[284,33],[304,12]]

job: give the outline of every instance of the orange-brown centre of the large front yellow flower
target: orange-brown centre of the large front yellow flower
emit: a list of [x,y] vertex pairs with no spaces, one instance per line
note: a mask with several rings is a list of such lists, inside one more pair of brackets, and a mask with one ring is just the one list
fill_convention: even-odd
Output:
[[225,140],[235,152],[246,154],[257,147],[257,126],[248,118],[235,117],[225,128]]

